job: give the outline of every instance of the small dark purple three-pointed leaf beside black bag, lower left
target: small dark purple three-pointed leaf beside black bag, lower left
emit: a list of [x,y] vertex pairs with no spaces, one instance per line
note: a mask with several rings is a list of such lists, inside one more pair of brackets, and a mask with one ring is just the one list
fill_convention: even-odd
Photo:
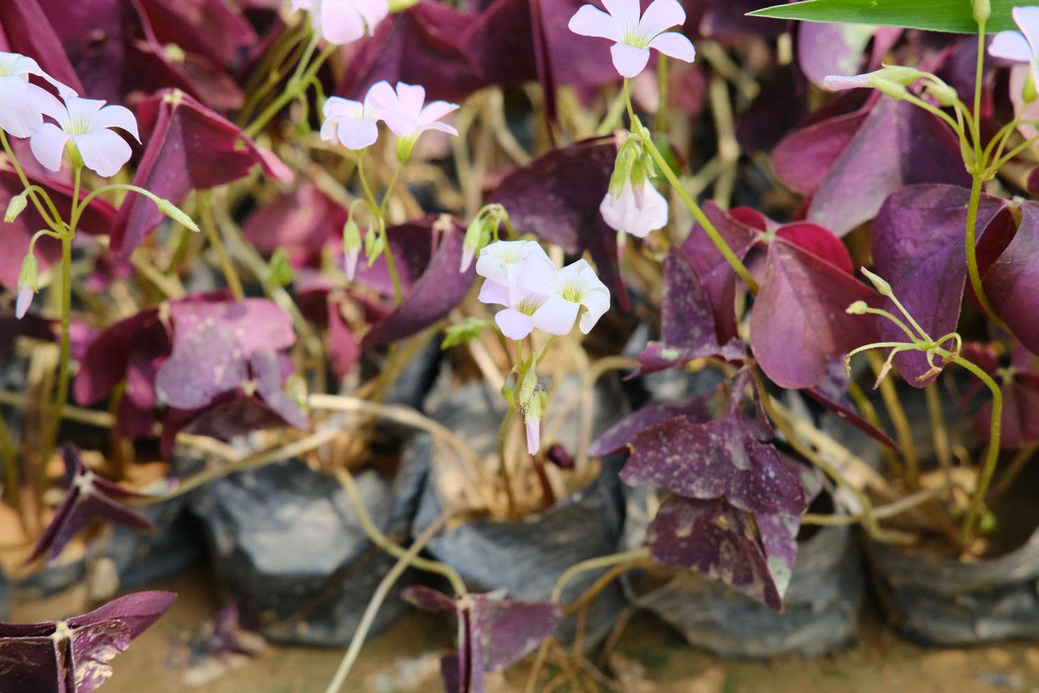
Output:
[[79,450],[71,443],[61,446],[61,457],[65,464],[68,490],[61,507],[54,518],[39,535],[32,555],[26,560],[31,563],[44,554],[54,560],[69,540],[97,517],[133,527],[142,532],[155,531],[155,526],[140,513],[130,510],[112,498],[141,498],[123,486],[102,479],[86,469],[80,459]]

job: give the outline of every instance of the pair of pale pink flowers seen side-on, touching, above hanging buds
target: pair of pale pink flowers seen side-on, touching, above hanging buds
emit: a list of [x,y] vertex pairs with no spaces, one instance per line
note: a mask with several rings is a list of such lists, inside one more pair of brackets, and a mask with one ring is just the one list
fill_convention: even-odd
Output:
[[382,121],[397,135],[397,158],[406,161],[419,135],[427,130],[458,136],[454,127],[441,123],[457,108],[458,104],[446,101],[427,104],[423,86],[397,82],[393,87],[383,80],[372,84],[363,102],[329,97],[322,107],[321,139],[359,151],[375,143]]

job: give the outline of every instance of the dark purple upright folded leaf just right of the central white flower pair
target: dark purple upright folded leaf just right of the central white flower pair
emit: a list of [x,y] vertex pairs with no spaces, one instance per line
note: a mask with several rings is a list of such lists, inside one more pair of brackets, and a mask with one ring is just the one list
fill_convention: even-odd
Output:
[[646,346],[639,354],[638,372],[629,377],[675,368],[703,356],[725,361],[746,356],[738,338],[718,343],[711,299],[681,252],[671,252],[664,261],[660,322],[661,341]]

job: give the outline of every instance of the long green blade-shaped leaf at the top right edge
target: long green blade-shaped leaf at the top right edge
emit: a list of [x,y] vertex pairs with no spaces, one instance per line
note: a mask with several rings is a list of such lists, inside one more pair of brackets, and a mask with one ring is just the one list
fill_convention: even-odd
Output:
[[[1025,0],[991,0],[992,15],[985,31],[1017,30],[1010,10]],[[970,0],[803,0],[789,5],[774,5],[747,12],[802,22],[834,24],[879,24],[907,29],[977,33]]]

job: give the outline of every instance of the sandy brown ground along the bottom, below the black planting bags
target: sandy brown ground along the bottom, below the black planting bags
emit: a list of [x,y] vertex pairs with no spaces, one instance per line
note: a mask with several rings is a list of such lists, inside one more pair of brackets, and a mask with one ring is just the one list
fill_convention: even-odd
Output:
[[[212,676],[197,684],[170,655],[179,639],[219,607],[211,579],[196,571],[156,585],[180,593],[174,608],[114,661],[115,675],[105,693],[321,693],[342,650],[270,647],[254,660],[195,669]],[[415,613],[366,643],[345,688],[357,693],[438,693],[437,667],[454,633],[448,618]],[[876,691],[895,693],[1039,693],[1039,643],[1005,643],[968,649],[927,649],[898,637],[868,614],[856,642],[818,660],[723,661],[690,647],[649,616],[633,619],[614,660],[625,693],[802,693]],[[529,663],[491,682],[488,693],[522,691]],[[558,673],[558,671],[557,671]],[[548,690],[552,675],[541,690]],[[559,673],[555,690],[575,691]],[[585,686],[580,689],[593,689]],[[606,690],[606,689],[602,689]]]

